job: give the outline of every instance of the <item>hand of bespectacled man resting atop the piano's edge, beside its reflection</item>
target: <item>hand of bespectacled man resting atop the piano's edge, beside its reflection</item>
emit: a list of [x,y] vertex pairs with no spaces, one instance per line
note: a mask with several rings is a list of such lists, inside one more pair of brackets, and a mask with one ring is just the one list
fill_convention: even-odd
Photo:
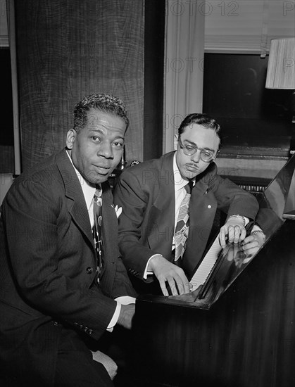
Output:
[[220,246],[225,248],[227,243],[239,243],[246,237],[244,217],[232,215],[228,218],[219,233]]

